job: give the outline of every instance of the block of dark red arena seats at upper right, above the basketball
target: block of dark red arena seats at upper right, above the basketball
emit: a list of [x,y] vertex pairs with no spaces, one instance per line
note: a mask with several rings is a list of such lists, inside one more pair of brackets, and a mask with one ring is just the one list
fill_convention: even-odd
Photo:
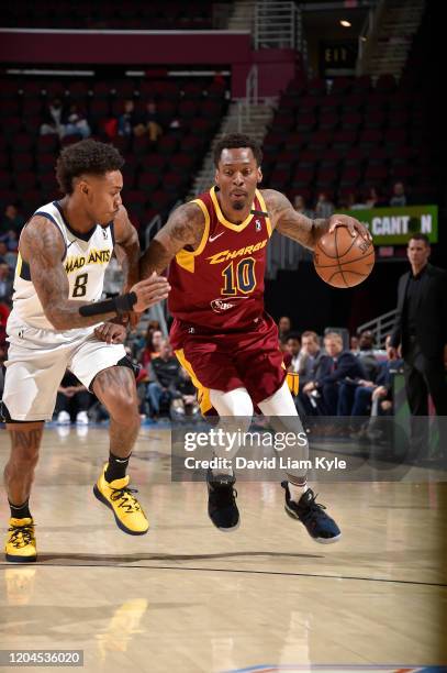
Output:
[[402,180],[412,202],[439,196],[438,82],[429,64],[426,15],[396,82],[390,75],[290,82],[265,139],[265,184],[312,203],[334,202],[369,187],[389,195]]

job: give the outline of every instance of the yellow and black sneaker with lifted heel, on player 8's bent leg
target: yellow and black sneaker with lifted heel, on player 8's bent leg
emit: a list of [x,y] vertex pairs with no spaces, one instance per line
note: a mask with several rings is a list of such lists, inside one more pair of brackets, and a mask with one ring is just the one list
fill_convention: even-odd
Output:
[[144,536],[149,522],[136,497],[135,488],[128,488],[128,476],[123,479],[107,482],[104,473],[107,465],[93,486],[98,500],[109,507],[115,517],[116,526],[130,536]]

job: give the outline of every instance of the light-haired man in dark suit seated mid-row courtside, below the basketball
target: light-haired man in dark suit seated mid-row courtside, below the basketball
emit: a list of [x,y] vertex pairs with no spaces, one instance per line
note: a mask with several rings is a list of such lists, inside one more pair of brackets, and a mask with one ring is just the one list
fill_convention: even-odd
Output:
[[324,349],[328,357],[322,358],[317,376],[303,387],[303,393],[316,390],[322,396],[321,410],[328,416],[338,412],[338,393],[340,383],[365,378],[365,372],[358,358],[350,351],[343,350],[343,339],[338,332],[328,332],[324,336]]

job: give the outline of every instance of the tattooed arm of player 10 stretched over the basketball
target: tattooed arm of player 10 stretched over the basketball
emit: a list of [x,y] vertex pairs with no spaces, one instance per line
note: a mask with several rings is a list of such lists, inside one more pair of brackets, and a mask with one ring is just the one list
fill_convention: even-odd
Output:
[[313,250],[319,239],[327,231],[334,231],[336,227],[345,225],[353,236],[360,233],[365,239],[371,240],[369,231],[355,218],[345,214],[333,214],[328,220],[311,220],[297,212],[289,199],[275,189],[262,190],[267,210],[270,213],[271,224],[279,233],[293,239]]

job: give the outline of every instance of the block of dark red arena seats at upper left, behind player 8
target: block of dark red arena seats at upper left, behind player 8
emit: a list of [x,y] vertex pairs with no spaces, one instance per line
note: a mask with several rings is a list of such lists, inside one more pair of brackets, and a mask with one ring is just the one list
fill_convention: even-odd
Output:
[[[107,120],[123,111],[126,98],[136,110],[147,100],[157,102],[163,135],[120,136],[113,143],[126,159],[123,198],[132,221],[143,228],[185,198],[226,108],[226,85],[210,79],[130,80],[109,82],[4,79],[0,92],[0,208],[20,201],[24,214],[58,195],[54,167],[60,146],[77,135],[40,135],[47,104],[54,97],[76,102],[99,140],[108,140]],[[174,128],[171,128],[175,121]]]

